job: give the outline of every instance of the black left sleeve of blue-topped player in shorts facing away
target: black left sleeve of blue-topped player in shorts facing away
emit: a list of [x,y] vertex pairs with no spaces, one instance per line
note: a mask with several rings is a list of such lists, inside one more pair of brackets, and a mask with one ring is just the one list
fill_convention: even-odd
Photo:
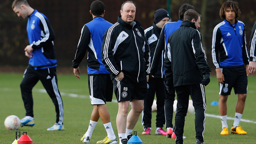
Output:
[[82,62],[86,54],[86,50],[89,47],[90,39],[91,39],[90,30],[86,25],[84,25],[84,27],[82,28],[81,36],[76,49],[75,59],[73,60],[73,65],[72,65],[73,68],[77,68],[80,62]]

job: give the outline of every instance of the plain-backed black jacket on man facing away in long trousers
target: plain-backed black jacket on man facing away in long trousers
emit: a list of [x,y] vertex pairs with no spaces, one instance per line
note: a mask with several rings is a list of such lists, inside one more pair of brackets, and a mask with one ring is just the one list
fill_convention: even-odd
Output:
[[180,28],[170,35],[167,54],[164,63],[166,79],[172,80],[173,72],[174,86],[200,84],[203,75],[210,73],[200,32],[194,22],[182,22]]

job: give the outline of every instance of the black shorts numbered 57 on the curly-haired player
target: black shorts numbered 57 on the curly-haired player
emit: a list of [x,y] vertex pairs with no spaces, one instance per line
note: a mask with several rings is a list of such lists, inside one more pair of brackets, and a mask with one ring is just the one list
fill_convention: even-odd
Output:
[[224,84],[219,83],[220,93],[223,96],[230,95],[232,88],[235,94],[246,94],[248,81],[246,76],[246,68],[244,66],[238,68],[220,68],[224,75]]

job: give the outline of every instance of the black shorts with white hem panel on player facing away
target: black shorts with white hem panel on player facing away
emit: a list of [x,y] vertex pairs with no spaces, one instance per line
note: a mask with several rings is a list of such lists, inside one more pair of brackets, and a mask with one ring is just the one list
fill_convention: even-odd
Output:
[[88,87],[92,105],[106,104],[112,101],[113,83],[110,75],[89,75]]

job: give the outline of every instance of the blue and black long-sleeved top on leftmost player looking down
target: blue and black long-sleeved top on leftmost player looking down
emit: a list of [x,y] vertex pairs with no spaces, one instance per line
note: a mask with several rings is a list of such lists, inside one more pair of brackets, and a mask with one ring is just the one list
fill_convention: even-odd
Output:
[[54,31],[44,14],[34,10],[27,23],[28,41],[33,48],[29,65],[35,70],[57,66],[54,51]]

